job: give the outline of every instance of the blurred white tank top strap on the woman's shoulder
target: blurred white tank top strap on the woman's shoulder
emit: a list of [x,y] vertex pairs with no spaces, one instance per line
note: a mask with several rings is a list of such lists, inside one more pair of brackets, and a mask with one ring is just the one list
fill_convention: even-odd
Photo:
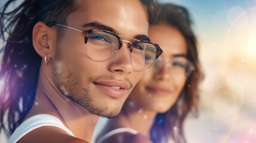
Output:
[[116,133],[122,133],[122,132],[129,132],[129,133],[132,133],[133,135],[137,135],[138,134],[138,131],[135,130],[135,129],[131,129],[131,128],[118,128],[118,129],[111,130],[110,132],[108,132],[105,135],[101,136],[101,138],[98,139],[97,143],[101,143],[105,139],[109,138],[110,136],[115,135]]

